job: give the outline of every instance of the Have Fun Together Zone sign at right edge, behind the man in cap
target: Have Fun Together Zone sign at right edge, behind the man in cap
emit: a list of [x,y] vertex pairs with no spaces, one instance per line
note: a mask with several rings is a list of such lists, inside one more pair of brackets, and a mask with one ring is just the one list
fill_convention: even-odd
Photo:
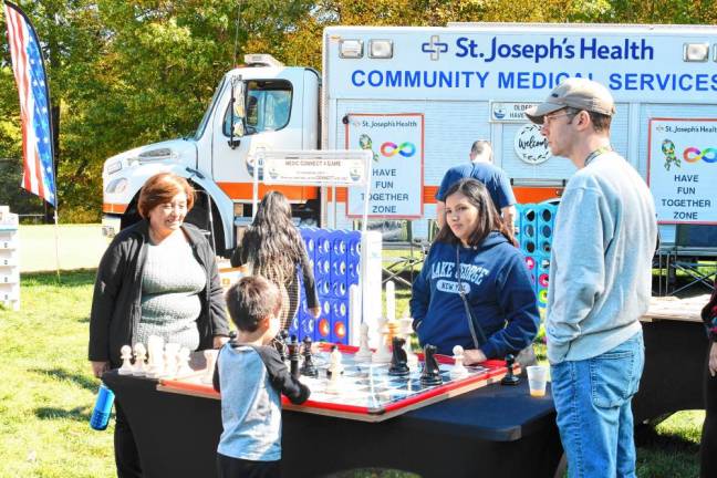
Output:
[[659,224],[717,225],[717,118],[652,118],[647,184]]

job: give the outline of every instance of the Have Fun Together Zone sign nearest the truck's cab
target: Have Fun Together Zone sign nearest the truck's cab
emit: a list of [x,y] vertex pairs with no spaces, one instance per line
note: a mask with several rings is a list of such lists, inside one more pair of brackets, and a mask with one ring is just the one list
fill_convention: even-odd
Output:
[[[372,155],[368,217],[423,217],[424,115],[349,114],[347,118],[346,147]],[[361,217],[364,198],[361,189],[349,189],[347,217]]]

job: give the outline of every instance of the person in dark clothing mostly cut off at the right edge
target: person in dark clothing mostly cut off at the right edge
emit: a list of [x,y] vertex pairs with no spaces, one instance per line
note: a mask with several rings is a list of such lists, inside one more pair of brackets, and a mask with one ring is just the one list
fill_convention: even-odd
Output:
[[705,423],[699,445],[699,476],[717,476],[717,278],[709,302],[702,310],[709,349],[705,363]]

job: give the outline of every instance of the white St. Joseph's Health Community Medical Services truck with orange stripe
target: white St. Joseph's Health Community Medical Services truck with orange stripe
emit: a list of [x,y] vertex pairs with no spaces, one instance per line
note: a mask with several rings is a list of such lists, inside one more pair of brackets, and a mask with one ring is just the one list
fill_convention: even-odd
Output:
[[[653,118],[717,118],[715,27],[332,27],[322,75],[268,55],[245,61],[221,79],[193,137],[105,162],[107,233],[137,219],[146,178],[173,170],[200,191],[190,220],[215,232],[218,252],[229,250],[235,225],[251,216],[254,164],[276,149],[371,149],[370,215],[415,219],[414,236],[427,233],[444,173],[468,160],[476,139],[492,142],[519,202],[559,197],[574,167],[550,155],[522,112],[571,76],[611,90],[613,147],[646,178]],[[361,215],[360,188],[271,187],[304,220],[346,227]]]

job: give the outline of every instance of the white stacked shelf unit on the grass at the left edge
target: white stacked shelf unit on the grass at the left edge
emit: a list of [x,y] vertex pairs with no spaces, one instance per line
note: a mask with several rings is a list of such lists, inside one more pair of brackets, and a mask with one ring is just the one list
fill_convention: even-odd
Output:
[[0,206],[0,305],[20,310],[18,215],[8,206]]

